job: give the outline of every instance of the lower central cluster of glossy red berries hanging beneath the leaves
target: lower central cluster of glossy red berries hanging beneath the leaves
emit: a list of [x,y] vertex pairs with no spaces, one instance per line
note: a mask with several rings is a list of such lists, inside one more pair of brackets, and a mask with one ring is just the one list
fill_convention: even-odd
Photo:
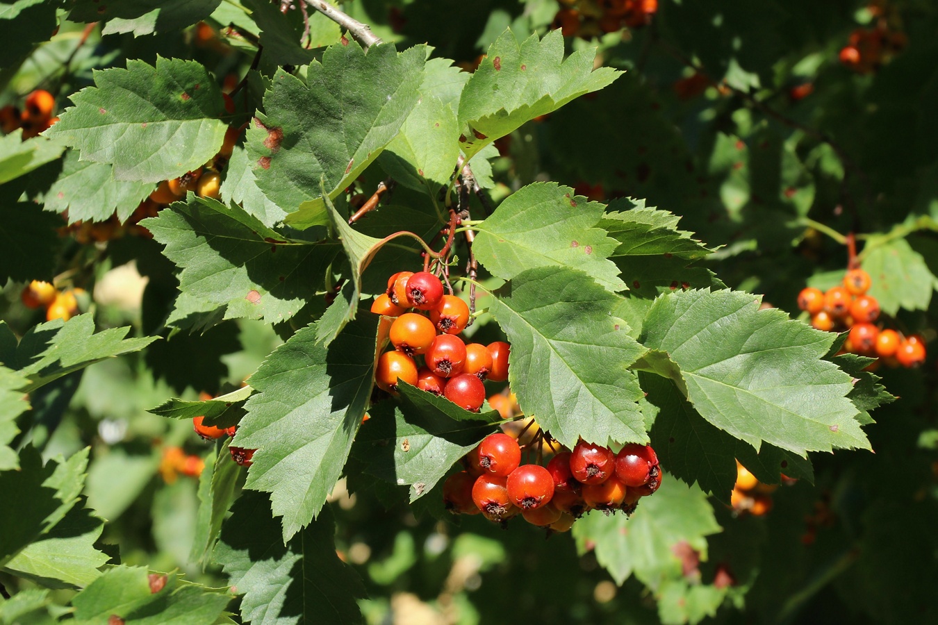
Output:
[[516,439],[489,435],[462,459],[464,470],[446,479],[446,509],[503,524],[521,513],[532,525],[563,532],[591,510],[631,514],[661,484],[658,456],[648,445],[631,443],[615,454],[581,440],[546,467],[521,461]]

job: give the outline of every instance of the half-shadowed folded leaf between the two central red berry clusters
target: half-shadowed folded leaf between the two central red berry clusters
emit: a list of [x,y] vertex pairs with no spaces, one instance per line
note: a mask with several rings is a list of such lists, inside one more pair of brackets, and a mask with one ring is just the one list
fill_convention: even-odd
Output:
[[362,425],[352,454],[372,475],[410,486],[413,502],[492,434],[492,424],[501,419],[497,412],[479,415],[463,410],[407,383],[401,384],[400,392],[403,407],[385,401],[369,409],[371,419]]

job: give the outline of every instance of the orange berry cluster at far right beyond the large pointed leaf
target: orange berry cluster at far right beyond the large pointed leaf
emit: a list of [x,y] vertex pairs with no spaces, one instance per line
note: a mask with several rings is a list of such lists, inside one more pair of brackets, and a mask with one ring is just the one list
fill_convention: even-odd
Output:
[[814,287],[801,290],[798,307],[809,313],[811,325],[818,330],[849,330],[843,351],[879,357],[889,366],[921,365],[925,362],[925,343],[920,336],[903,337],[895,330],[876,325],[880,305],[875,297],[866,294],[870,284],[870,274],[851,269],[844,275],[842,286],[826,292]]

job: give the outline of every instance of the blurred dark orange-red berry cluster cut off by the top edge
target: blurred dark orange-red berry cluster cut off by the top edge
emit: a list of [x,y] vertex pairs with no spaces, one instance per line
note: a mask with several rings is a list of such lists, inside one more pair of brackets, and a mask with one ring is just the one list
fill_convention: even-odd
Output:
[[564,37],[589,39],[628,26],[641,28],[658,12],[658,0],[558,0],[552,28]]

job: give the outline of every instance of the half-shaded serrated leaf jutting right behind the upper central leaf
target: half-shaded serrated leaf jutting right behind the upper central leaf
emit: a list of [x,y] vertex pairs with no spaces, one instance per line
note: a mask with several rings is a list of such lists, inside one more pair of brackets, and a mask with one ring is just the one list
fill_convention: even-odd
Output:
[[[610,208],[626,203],[613,201]],[[676,256],[700,259],[712,250],[692,239],[692,233],[677,230],[679,216],[656,208],[633,208],[606,213],[599,227],[619,242],[610,256]]]

